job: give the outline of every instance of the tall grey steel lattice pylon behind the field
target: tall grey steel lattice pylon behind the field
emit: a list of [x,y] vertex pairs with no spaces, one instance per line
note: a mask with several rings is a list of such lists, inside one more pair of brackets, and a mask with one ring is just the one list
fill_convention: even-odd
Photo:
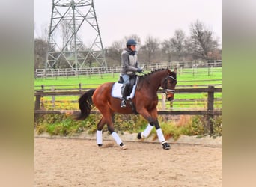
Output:
[[91,64],[106,67],[94,1],[52,0],[46,71],[72,68],[77,73]]

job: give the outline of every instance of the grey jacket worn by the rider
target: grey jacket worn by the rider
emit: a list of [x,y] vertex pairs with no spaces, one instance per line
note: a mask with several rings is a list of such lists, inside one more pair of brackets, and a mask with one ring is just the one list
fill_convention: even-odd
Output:
[[125,48],[121,54],[121,62],[121,75],[127,74],[129,76],[134,76],[138,70],[137,52],[132,52],[131,49]]

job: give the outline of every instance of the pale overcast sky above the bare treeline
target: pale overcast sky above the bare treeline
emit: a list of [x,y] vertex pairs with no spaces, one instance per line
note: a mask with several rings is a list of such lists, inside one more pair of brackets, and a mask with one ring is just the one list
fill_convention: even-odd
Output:
[[[94,0],[103,47],[136,34],[144,43],[147,36],[160,41],[182,29],[187,36],[197,19],[222,43],[222,0]],[[34,37],[48,28],[52,0],[34,0]]]

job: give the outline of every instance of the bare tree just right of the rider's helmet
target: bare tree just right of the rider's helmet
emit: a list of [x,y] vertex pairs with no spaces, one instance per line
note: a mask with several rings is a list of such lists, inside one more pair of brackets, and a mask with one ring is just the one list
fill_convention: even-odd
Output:
[[153,55],[156,55],[159,49],[160,42],[158,39],[151,36],[147,36],[144,46],[141,46],[141,50],[147,55],[147,62],[151,63],[153,60]]

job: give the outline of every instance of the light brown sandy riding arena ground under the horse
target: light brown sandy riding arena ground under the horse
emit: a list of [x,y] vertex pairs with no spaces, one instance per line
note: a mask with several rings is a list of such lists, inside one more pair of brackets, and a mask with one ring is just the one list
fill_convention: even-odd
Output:
[[222,186],[221,147],[124,143],[34,138],[34,186]]

